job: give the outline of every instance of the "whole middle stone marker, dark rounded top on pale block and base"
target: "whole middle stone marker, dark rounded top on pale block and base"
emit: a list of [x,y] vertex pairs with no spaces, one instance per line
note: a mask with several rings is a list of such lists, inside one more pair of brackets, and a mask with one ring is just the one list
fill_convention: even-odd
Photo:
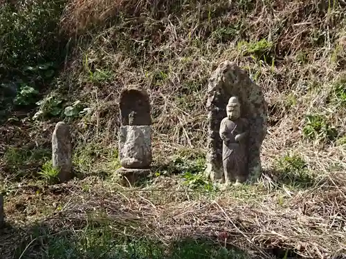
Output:
[[120,94],[119,159],[122,184],[134,184],[150,173],[152,137],[149,97],[145,90],[125,88]]

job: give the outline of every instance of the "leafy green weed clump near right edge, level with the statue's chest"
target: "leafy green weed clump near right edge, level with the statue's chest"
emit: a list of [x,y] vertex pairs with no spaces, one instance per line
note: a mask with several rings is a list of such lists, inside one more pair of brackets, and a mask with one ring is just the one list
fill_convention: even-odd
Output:
[[318,142],[333,141],[338,136],[336,128],[322,115],[307,115],[302,133],[305,139]]

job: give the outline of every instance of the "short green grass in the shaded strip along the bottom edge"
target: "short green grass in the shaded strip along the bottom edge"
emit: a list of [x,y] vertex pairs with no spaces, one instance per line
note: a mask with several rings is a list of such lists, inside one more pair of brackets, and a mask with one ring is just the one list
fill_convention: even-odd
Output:
[[[246,259],[246,253],[226,249],[208,240],[187,238],[167,246],[160,240],[126,237],[116,233],[111,225],[88,226],[76,233],[46,233],[36,228],[33,235],[21,243],[16,254],[21,258],[129,258],[129,259]],[[49,231],[48,231],[49,232]],[[25,250],[25,248],[26,250]],[[24,248],[24,249],[23,249]],[[39,256],[39,257],[35,257]]]

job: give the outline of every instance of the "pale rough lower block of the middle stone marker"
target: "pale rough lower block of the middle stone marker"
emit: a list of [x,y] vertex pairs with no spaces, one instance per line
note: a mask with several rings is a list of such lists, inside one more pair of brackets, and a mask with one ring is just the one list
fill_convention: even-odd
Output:
[[120,126],[119,159],[126,169],[149,169],[152,162],[150,126]]

